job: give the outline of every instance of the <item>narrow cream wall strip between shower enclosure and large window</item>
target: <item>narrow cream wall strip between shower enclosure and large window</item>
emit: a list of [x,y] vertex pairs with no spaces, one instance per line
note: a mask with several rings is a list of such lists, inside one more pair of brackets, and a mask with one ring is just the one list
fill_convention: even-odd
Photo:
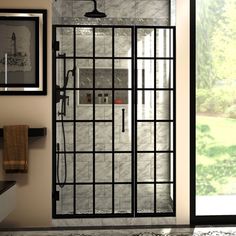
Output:
[[176,0],[176,223],[189,224],[189,0]]

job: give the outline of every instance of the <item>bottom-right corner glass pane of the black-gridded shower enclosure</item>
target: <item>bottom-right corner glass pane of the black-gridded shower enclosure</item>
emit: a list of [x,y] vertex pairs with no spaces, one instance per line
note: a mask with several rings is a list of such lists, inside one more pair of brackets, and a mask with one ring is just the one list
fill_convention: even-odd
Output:
[[171,198],[172,184],[156,185],[157,212],[173,212],[173,199]]

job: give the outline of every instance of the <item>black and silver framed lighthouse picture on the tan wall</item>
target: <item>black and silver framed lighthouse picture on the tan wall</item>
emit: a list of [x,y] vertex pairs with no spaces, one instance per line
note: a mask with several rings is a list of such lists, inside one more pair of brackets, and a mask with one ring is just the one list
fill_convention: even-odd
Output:
[[0,95],[47,94],[47,10],[0,9]]

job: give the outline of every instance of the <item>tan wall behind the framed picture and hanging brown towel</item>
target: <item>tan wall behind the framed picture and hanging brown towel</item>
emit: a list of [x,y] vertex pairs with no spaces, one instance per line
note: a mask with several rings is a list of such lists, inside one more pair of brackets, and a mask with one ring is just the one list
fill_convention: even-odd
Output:
[[[0,8],[48,9],[48,48],[51,48],[50,0],[0,1]],[[17,181],[17,205],[0,227],[48,226],[51,223],[52,170],[52,93],[51,51],[48,50],[47,96],[0,96],[0,127],[10,124],[29,124],[47,127],[44,138],[31,139],[29,144],[29,173],[6,175],[2,170],[2,142],[0,144],[0,180]],[[0,209],[1,210],[1,209]]]

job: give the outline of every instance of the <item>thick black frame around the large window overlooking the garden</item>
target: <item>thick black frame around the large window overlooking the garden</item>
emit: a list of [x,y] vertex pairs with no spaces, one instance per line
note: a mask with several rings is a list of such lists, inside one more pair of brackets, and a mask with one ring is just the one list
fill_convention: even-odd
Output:
[[235,215],[196,215],[196,2],[190,0],[190,223],[234,224]]

